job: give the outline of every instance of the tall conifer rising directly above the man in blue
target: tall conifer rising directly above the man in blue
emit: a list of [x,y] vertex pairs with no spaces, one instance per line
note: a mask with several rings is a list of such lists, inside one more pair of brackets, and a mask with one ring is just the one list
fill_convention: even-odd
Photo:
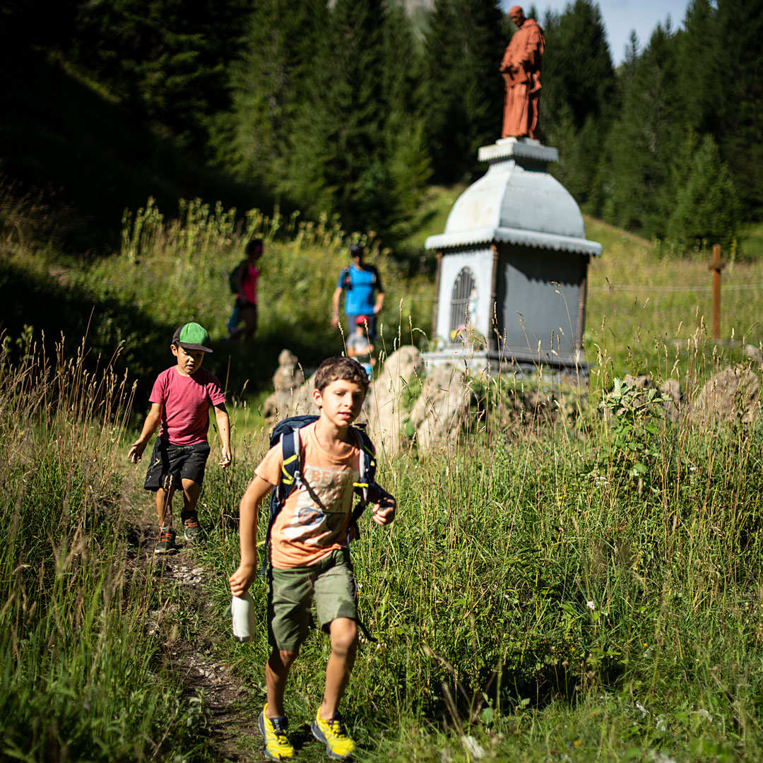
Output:
[[391,114],[398,118],[385,91],[387,24],[383,0],[337,0],[291,134],[284,191],[311,216],[338,212],[356,230],[386,231],[399,211],[386,129]]

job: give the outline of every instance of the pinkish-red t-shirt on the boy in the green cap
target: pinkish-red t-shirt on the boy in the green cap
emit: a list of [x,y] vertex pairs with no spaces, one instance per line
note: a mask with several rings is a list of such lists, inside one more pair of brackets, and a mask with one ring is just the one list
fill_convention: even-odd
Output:
[[183,376],[173,365],[156,378],[149,400],[163,406],[159,437],[172,445],[195,445],[207,441],[209,407],[224,403],[225,395],[205,369]]

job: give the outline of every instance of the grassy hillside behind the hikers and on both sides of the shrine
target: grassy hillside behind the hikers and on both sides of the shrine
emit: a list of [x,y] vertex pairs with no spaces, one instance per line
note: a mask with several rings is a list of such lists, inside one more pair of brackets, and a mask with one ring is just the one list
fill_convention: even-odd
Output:
[[[91,353],[104,360],[118,353],[118,367],[140,379],[140,400],[148,380],[169,362],[172,331],[186,320],[208,327],[218,343],[208,362],[236,394],[245,387],[266,388],[284,347],[308,366],[342,349],[342,337],[330,330],[330,295],[346,264],[346,239],[328,218],[312,224],[277,211],[270,216],[252,211],[242,227],[240,215],[220,204],[188,201],[175,211],[150,201],[127,212],[117,253],[75,259],[56,249],[60,221],[50,219],[34,199],[19,201],[7,186],[3,190],[0,298],[8,305],[3,316],[8,336],[21,336],[25,326],[44,331],[48,340],[63,333],[72,352],[86,334]],[[457,192],[433,192],[409,251],[442,229]],[[723,271],[723,341],[716,346],[708,336],[707,253],[679,259],[606,224],[586,222],[588,237],[600,241],[604,253],[589,270],[584,345],[588,361],[595,363],[600,355],[609,376],[656,369],[670,375],[674,365],[675,373],[685,376],[691,343],[701,343],[709,359],[739,359],[743,344],[761,343],[757,306],[763,298],[763,258],[736,259]],[[227,273],[254,235],[267,242],[259,333],[252,348],[226,346],[221,340],[233,304]],[[398,265],[373,240],[365,243],[385,283],[383,345],[389,350],[401,342],[423,343],[434,300],[430,265],[421,269],[413,259]]]

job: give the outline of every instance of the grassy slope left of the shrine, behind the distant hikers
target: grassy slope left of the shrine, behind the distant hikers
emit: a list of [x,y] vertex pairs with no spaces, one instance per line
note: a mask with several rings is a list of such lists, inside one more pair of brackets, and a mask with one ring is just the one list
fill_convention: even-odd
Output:
[[[51,243],[55,231],[44,214],[34,203],[0,195],[3,328],[14,339],[24,327],[51,341],[63,333],[69,352],[87,335],[91,357],[105,362],[118,353],[117,367],[140,380],[140,401],[171,361],[175,327],[188,320],[208,327],[217,347],[208,364],[234,394],[266,385],[284,347],[308,367],[343,349],[330,319],[336,278],[349,262],[347,239],[328,218],[313,224],[253,210],[242,225],[220,204],[182,201],[178,210],[160,211],[150,200],[125,215],[117,253],[75,259]],[[222,343],[233,307],[227,275],[254,236],[266,240],[259,332],[253,346],[230,346]],[[410,274],[375,241],[362,241],[385,286],[381,345],[391,351],[414,340],[414,329],[429,330],[432,278]]]

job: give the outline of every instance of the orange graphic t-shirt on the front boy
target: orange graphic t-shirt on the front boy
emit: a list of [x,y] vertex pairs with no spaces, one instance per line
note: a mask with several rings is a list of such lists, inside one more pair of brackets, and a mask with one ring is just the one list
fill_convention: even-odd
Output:
[[[291,491],[275,517],[270,536],[270,560],[275,568],[304,567],[347,546],[347,526],[353,513],[353,484],[360,478],[360,451],[346,445],[333,456],[320,446],[315,423],[299,430],[302,487]],[[258,477],[278,485],[282,477],[281,443],[273,446],[256,468]]]

